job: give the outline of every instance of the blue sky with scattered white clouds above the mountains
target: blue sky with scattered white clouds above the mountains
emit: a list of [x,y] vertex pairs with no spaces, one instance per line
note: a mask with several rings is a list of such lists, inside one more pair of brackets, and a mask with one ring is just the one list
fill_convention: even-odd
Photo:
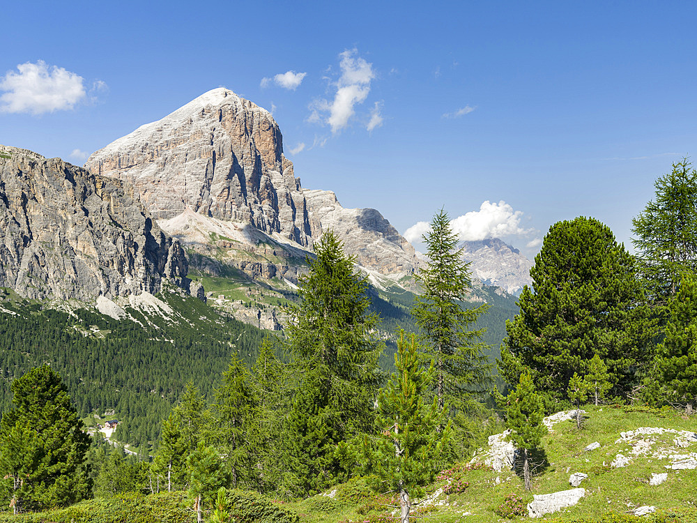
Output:
[[631,247],[655,179],[696,151],[687,2],[13,2],[1,19],[0,144],[82,165],[226,86],[273,111],[303,187],[402,233],[443,206],[463,238],[530,257],[578,215]]

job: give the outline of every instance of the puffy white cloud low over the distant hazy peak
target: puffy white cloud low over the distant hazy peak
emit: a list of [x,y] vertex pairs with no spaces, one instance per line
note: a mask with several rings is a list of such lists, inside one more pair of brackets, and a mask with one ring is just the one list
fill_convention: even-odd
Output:
[[450,222],[452,229],[463,241],[477,241],[502,236],[530,236],[535,229],[521,227],[523,211],[514,211],[501,200],[483,202],[479,211],[470,211]]

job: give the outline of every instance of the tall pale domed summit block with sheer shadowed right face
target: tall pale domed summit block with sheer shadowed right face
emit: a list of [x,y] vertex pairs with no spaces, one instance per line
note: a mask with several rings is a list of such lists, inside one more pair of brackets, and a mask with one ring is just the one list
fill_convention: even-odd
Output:
[[154,218],[194,212],[308,244],[300,181],[269,112],[213,89],[93,153],[85,167],[128,181]]

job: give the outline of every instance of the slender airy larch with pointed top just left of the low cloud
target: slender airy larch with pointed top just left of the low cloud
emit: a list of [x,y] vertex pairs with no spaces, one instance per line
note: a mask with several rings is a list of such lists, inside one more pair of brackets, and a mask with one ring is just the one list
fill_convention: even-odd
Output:
[[429,261],[415,274],[422,294],[416,296],[412,314],[424,350],[434,362],[438,408],[447,402],[454,411],[468,411],[476,407],[473,398],[490,382],[485,346],[480,342],[482,330],[471,328],[488,305],[462,306],[472,282],[468,264],[461,250],[456,250],[457,234],[443,209],[434,215],[424,242]]

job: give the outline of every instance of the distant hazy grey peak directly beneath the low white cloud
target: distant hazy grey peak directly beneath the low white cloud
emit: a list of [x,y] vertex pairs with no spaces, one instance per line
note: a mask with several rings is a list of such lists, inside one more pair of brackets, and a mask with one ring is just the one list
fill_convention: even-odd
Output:
[[532,285],[533,262],[518,249],[498,238],[461,243],[462,258],[470,262],[472,275],[487,285],[496,285],[510,294],[520,294]]

